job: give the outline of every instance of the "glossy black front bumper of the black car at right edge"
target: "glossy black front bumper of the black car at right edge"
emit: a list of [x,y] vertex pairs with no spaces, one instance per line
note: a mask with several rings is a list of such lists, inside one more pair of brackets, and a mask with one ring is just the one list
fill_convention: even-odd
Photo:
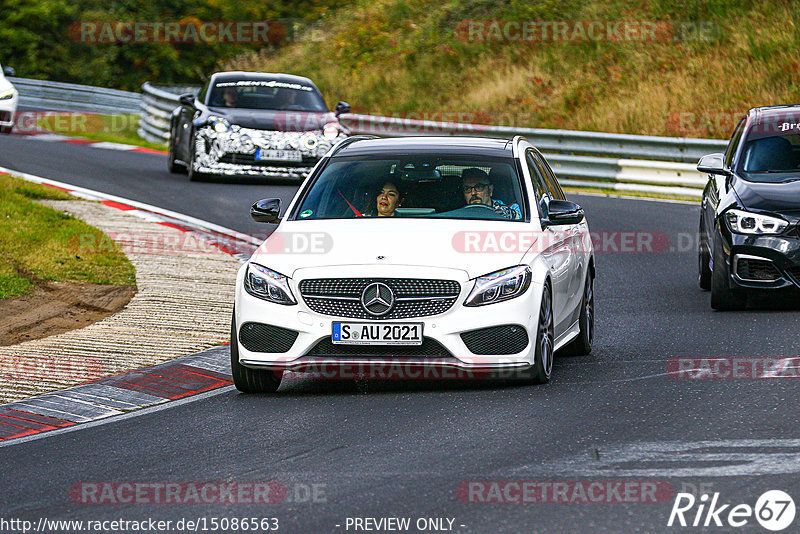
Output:
[[771,236],[725,232],[723,241],[731,287],[800,289],[800,228]]

